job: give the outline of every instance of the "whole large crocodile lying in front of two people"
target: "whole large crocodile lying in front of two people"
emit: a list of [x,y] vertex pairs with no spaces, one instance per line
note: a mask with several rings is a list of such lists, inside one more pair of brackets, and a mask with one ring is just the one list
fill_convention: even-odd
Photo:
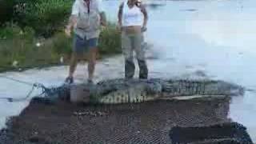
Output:
[[[223,81],[213,80],[163,80],[152,78],[139,79],[110,79],[95,85],[75,84],[62,89],[65,93],[55,98],[72,102],[95,102],[117,104],[126,102],[145,102],[159,98],[173,98],[182,96],[231,96],[242,95],[242,86]],[[53,98],[50,95],[51,98]],[[48,97],[48,98],[50,98]]]

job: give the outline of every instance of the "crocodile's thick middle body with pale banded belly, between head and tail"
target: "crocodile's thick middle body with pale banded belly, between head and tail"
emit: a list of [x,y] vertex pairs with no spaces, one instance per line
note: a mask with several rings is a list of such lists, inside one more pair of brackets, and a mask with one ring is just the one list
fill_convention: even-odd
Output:
[[144,102],[161,97],[162,85],[146,80],[115,79],[100,82],[91,91],[90,102],[117,104]]

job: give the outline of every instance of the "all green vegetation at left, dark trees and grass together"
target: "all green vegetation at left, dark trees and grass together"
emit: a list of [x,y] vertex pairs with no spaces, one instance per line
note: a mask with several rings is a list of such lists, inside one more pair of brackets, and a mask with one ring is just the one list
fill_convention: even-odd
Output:
[[[0,0],[0,6],[13,6],[11,18],[0,20],[0,71],[67,64],[73,41],[63,29],[73,0],[8,1]],[[100,35],[100,57],[120,53],[120,45],[118,30],[109,24]]]

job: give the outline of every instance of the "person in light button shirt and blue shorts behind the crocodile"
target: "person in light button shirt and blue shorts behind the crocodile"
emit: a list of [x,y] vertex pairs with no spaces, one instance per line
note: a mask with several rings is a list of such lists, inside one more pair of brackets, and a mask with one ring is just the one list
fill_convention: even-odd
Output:
[[96,57],[98,54],[98,38],[101,33],[101,26],[106,26],[106,15],[102,10],[100,0],[75,0],[72,6],[70,21],[66,26],[66,35],[71,36],[71,29],[74,28],[74,46],[70,60],[69,75],[65,82],[74,82],[74,71],[78,64],[78,57],[84,51],[88,52],[88,79],[93,83]]

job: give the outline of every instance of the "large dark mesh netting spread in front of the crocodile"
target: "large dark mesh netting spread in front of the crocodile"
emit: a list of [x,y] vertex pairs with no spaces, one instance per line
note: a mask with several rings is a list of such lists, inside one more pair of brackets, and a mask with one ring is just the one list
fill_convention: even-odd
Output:
[[8,134],[14,143],[170,143],[174,126],[229,122],[229,102],[230,98],[114,106],[31,102],[12,118]]

